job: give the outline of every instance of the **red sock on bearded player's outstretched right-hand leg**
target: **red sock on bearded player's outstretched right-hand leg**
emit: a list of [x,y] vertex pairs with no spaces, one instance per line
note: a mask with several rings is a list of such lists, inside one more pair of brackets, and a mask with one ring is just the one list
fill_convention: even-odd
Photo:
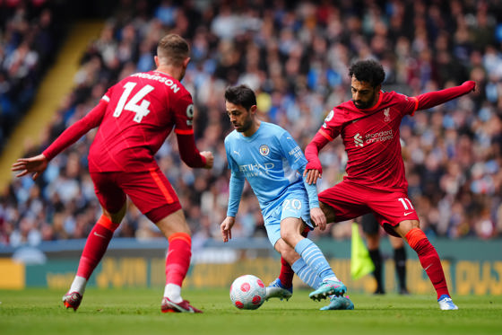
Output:
[[411,248],[417,251],[420,264],[425,269],[428,278],[436,289],[437,299],[441,295],[450,295],[446,286],[446,278],[441,260],[434,246],[428,242],[427,236],[419,228],[413,228],[406,234],[406,239]]

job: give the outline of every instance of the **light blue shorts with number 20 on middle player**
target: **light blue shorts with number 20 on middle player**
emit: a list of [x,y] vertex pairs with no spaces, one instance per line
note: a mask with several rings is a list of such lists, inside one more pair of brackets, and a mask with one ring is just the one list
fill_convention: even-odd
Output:
[[308,196],[305,189],[286,192],[281,198],[274,201],[270,207],[270,214],[264,216],[264,224],[268,239],[273,246],[281,238],[281,221],[286,217],[301,218],[310,230],[314,229],[314,224],[310,221]]

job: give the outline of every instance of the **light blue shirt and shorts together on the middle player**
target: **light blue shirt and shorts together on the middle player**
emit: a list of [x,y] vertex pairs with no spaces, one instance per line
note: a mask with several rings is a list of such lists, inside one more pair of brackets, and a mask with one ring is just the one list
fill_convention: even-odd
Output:
[[[244,181],[255,192],[272,245],[281,238],[281,221],[301,218],[310,228],[309,207],[319,207],[316,185],[303,181],[307,159],[283,128],[261,122],[250,137],[234,130],[225,138],[230,177],[227,216],[236,216]],[[307,191],[306,191],[307,189]]]

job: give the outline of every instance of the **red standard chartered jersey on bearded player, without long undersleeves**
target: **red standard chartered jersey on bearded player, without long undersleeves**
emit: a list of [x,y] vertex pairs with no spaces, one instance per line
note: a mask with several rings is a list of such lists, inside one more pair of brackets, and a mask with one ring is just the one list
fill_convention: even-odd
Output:
[[376,105],[359,110],[352,101],[335,107],[319,132],[333,140],[342,136],[349,157],[345,179],[380,190],[407,192],[399,127],[417,110],[417,98],[381,93]]

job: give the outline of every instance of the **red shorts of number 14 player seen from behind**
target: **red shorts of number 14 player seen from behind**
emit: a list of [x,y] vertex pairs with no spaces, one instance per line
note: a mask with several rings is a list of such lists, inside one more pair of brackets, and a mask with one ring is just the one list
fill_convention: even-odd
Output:
[[158,166],[146,172],[91,172],[91,179],[101,206],[110,213],[124,206],[125,195],[153,223],[181,209],[176,192]]

